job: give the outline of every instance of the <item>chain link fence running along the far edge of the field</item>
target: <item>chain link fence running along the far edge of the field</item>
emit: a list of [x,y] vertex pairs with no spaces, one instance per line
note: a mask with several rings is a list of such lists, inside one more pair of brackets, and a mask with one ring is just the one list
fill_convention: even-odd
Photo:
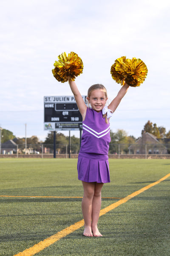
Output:
[[[70,157],[71,154],[77,155],[79,153],[79,144],[56,144],[56,155],[60,157]],[[18,144],[11,145],[6,148],[1,148],[1,155],[4,157],[8,155],[16,155],[20,157],[21,155],[31,155],[35,157],[45,157],[45,155],[54,155],[54,145],[53,144]],[[114,155],[153,155],[153,154],[170,154],[170,143],[169,144],[118,144],[110,143],[109,154]],[[38,156],[39,155],[39,156]]]

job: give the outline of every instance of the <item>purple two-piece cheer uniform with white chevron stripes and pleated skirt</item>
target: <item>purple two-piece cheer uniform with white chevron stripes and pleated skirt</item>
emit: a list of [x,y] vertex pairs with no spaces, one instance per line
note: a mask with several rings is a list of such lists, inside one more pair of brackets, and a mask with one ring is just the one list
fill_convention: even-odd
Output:
[[82,122],[82,143],[79,151],[78,179],[85,182],[110,182],[108,150],[110,124],[105,122],[102,111],[87,108]]

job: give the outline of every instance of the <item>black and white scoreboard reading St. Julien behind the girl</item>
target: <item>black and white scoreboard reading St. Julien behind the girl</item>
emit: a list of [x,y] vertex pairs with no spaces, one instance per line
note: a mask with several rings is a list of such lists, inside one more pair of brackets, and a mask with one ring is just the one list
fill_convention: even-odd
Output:
[[[86,104],[86,96],[82,96]],[[44,130],[82,130],[74,96],[44,96]]]

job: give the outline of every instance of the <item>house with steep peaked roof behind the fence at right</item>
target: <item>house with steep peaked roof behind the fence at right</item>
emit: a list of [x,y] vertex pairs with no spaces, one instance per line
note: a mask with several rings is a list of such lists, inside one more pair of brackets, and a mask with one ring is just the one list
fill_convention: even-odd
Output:
[[157,140],[157,138],[148,132],[143,132],[142,137],[136,140],[136,143],[130,145],[131,154],[167,154],[167,148]]

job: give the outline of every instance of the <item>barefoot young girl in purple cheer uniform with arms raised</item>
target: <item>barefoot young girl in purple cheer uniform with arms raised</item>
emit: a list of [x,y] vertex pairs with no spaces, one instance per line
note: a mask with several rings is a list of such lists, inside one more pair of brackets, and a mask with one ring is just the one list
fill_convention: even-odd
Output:
[[88,89],[88,108],[74,81],[69,84],[82,115],[82,143],[79,151],[77,170],[82,180],[84,194],[82,214],[85,221],[84,236],[102,236],[97,223],[101,208],[101,191],[104,183],[110,182],[108,150],[110,137],[109,119],[128,90],[124,84],[116,98],[107,107],[107,90],[102,84],[94,84]]

